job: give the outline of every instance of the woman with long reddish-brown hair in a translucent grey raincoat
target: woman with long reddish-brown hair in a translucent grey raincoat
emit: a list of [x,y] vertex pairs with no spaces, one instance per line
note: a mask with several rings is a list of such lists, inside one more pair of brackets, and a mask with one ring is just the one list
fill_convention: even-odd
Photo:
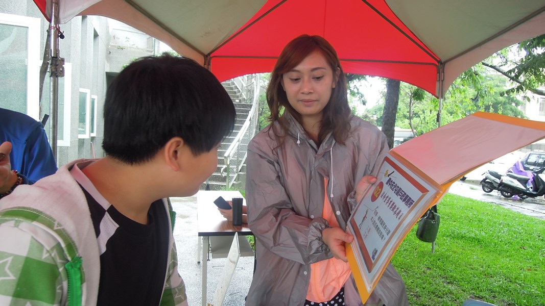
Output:
[[[272,123],[252,139],[247,157],[257,267],[246,305],[361,305],[344,253],[353,237],[344,229],[376,181],[388,151],[384,134],[350,114],[337,54],[320,36],[284,47],[267,102]],[[391,265],[367,303],[408,305]]]

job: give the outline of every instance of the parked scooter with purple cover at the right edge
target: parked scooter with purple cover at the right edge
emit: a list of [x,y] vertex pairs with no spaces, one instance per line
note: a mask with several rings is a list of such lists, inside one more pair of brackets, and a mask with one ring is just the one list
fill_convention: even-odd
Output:
[[537,170],[536,172],[526,175],[519,175],[528,173],[523,169],[520,162],[516,162],[510,171],[505,176],[502,176],[498,183],[498,191],[506,198],[511,198],[513,195],[518,195],[522,199],[535,198],[545,195],[545,174],[543,174],[545,167]]

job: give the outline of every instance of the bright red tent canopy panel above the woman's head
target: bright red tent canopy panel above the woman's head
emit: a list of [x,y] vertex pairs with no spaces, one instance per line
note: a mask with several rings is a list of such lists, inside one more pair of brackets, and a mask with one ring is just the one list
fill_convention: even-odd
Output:
[[269,72],[284,45],[302,33],[337,50],[345,72],[401,79],[435,93],[440,59],[384,1],[268,1],[209,57],[219,79]]

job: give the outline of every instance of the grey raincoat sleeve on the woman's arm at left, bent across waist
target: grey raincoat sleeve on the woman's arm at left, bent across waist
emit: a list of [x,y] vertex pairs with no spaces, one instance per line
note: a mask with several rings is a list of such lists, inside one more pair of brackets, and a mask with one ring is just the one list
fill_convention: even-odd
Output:
[[[265,145],[267,146],[267,145]],[[322,241],[325,219],[310,219],[295,213],[280,177],[277,158],[251,142],[246,172],[248,223],[253,234],[272,253],[311,264],[332,257]]]

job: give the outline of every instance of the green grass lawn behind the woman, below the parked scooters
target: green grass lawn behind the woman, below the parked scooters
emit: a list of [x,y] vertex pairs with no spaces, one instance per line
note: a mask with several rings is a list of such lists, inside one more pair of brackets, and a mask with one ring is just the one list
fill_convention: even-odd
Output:
[[545,305],[545,221],[447,194],[435,253],[409,232],[392,264],[410,305]]

